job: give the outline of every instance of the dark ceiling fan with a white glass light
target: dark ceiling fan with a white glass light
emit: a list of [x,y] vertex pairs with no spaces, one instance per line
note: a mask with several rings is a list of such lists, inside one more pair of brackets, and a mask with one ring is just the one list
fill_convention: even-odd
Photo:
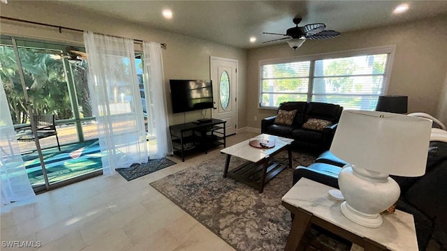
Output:
[[325,30],[326,25],[322,23],[306,24],[305,26],[298,26],[301,20],[302,20],[301,17],[293,18],[293,23],[296,24],[296,26],[287,29],[285,34],[263,32],[264,34],[286,36],[286,38],[274,39],[270,41],[265,41],[263,43],[270,43],[277,40],[288,39],[287,40],[288,45],[290,45],[293,50],[297,50],[303,43],[305,43],[305,40],[307,39],[314,40],[314,39],[335,38],[336,36],[340,35],[338,31],[332,31],[332,30],[326,31]]

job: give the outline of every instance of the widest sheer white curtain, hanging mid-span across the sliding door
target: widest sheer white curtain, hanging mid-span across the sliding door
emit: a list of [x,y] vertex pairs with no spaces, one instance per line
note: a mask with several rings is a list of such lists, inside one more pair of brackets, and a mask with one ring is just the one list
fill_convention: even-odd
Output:
[[86,31],[89,91],[103,174],[147,162],[147,143],[133,40]]

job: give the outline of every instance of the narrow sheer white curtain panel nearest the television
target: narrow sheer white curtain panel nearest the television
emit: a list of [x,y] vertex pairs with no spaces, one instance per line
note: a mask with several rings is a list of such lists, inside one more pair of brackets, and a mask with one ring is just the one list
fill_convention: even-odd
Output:
[[159,43],[143,42],[143,67],[147,107],[147,130],[156,144],[149,144],[151,159],[163,158],[173,152],[168,130],[166,89],[163,81],[163,57]]

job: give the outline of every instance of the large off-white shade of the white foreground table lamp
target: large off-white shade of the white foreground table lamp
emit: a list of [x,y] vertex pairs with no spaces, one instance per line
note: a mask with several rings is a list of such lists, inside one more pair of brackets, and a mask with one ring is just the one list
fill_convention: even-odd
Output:
[[425,174],[431,122],[393,114],[344,110],[330,151],[337,157],[382,174]]

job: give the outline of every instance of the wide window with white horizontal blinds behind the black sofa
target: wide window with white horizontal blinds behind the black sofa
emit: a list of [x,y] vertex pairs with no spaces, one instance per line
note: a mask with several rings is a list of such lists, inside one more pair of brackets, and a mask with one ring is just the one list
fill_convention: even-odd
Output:
[[386,93],[395,47],[261,61],[260,107],[286,101],[338,104],[374,110]]

